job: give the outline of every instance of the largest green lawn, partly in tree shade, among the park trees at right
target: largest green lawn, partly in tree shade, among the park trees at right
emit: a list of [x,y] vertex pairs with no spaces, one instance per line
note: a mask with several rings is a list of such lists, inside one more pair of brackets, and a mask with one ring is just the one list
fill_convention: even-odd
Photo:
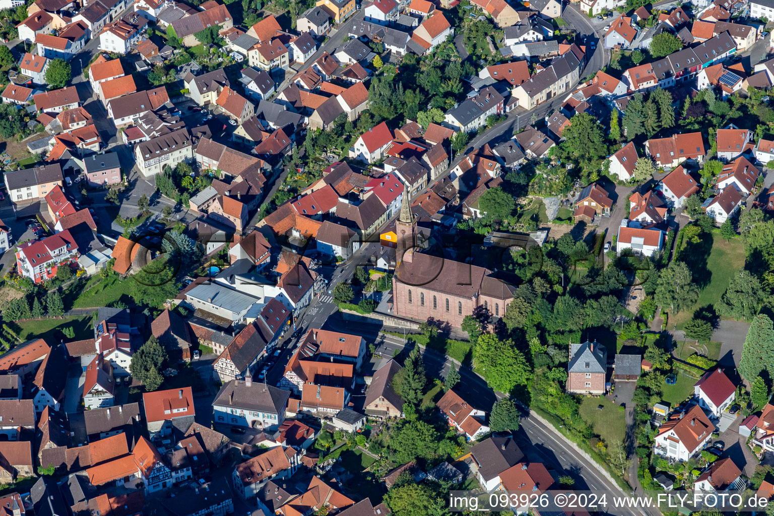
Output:
[[712,306],[721,299],[728,289],[731,276],[745,265],[745,249],[736,240],[725,241],[720,235],[704,234],[700,244],[683,245],[680,259],[687,263],[694,279],[709,283],[704,286],[699,300],[692,308],[676,314],[670,313],[669,324],[676,324],[678,330],[683,328],[697,310]]

